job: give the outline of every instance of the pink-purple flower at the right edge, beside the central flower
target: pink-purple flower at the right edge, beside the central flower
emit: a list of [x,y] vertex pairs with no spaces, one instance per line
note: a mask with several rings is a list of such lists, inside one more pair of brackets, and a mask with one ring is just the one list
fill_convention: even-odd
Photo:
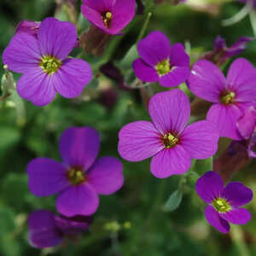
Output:
[[219,135],[241,140],[236,122],[256,99],[256,69],[253,65],[245,59],[237,59],[225,79],[211,61],[196,61],[188,85],[196,96],[213,102],[207,119],[218,125]]

